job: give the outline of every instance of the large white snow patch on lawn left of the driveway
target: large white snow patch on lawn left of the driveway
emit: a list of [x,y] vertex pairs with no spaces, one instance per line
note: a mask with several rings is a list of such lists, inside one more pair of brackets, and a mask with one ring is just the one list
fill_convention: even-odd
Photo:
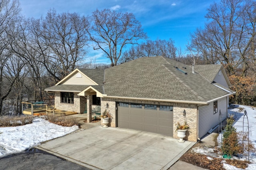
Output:
[[15,154],[32,148],[53,138],[64,136],[78,130],[78,126],[62,127],[41,118],[33,123],[19,127],[0,128],[0,157]]

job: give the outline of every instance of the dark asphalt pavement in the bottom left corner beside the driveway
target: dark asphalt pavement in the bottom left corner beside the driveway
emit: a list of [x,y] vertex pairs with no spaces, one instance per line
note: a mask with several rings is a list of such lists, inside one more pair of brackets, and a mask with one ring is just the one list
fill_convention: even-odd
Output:
[[90,170],[40,150],[0,158],[1,170]]

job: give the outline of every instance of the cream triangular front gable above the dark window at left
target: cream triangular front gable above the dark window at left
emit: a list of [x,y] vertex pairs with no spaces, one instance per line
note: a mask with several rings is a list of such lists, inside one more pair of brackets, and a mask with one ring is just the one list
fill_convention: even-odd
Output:
[[67,79],[62,81],[62,85],[97,85],[92,79],[84,75],[80,71],[74,71]]

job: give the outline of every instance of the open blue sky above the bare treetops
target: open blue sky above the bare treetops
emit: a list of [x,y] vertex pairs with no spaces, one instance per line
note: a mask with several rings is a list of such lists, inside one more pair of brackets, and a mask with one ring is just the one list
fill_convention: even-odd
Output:
[[[219,2],[216,0],[215,2]],[[77,12],[88,16],[94,10],[104,8],[131,12],[140,21],[151,40],[172,38],[176,47],[185,50],[189,34],[198,27],[204,27],[207,8],[213,0],[20,0],[21,14],[25,17],[40,18],[48,10],[57,13]],[[105,62],[101,51],[90,50],[97,62]]]

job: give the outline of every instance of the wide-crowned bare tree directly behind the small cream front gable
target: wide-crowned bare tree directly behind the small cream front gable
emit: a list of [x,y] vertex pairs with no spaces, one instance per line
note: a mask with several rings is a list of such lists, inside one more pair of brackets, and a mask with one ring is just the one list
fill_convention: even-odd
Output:
[[88,36],[88,21],[77,13],[56,14],[49,10],[45,18],[30,19],[28,26],[32,48],[40,57],[54,82],[60,81],[84,59]]

